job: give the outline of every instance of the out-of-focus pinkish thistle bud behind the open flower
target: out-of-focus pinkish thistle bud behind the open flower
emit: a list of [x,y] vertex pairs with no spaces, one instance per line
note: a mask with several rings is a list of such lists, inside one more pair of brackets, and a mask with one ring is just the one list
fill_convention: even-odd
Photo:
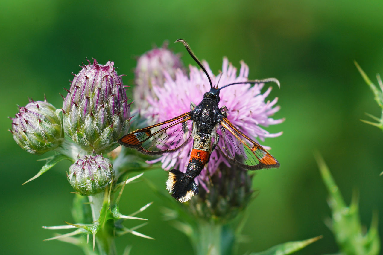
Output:
[[167,43],[164,43],[161,48],[154,48],[139,57],[134,70],[136,87],[133,93],[136,107],[138,109],[146,108],[148,93],[153,97],[156,96],[152,91],[152,85],[163,87],[164,72],[174,79],[177,69],[183,70],[183,63],[178,54],[174,54],[167,48]]

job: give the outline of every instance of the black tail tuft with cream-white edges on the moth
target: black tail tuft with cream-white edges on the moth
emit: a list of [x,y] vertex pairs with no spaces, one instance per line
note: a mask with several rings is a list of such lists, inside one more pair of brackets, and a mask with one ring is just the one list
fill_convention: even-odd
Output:
[[198,186],[194,179],[185,176],[177,169],[169,171],[169,179],[166,181],[166,189],[172,193],[172,197],[180,202],[186,202],[192,196],[198,195]]

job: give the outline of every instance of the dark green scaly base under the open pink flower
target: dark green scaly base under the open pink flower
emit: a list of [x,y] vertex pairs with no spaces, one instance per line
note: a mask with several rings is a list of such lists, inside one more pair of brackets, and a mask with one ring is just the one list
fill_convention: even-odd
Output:
[[205,183],[210,192],[202,188],[198,196],[190,200],[190,212],[206,220],[224,222],[234,218],[246,208],[252,197],[252,178],[247,170],[237,165],[228,167],[221,163],[211,181]]

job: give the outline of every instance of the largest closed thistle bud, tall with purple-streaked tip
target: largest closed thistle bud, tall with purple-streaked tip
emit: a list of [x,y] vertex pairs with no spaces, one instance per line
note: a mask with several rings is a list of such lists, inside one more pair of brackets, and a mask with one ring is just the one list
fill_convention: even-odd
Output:
[[130,107],[114,62],[95,59],[75,75],[64,100],[64,131],[87,152],[110,152],[129,128]]

